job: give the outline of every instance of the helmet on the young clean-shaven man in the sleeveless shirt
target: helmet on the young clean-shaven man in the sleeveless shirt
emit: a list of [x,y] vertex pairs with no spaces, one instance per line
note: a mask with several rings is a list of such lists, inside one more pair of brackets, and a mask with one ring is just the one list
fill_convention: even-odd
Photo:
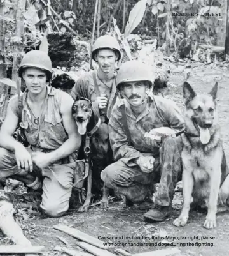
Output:
[[48,81],[52,79],[52,61],[48,54],[42,50],[31,50],[23,57],[18,68],[18,75],[22,77],[22,72],[25,68],[40,68],[45,70]]

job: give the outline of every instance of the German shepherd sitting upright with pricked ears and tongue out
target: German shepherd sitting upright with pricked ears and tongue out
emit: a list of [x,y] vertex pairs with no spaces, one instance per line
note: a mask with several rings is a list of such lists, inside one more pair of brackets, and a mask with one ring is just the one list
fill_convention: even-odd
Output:
[[206,229],[216,227],[218,198],[228,204],[229,176],[221,142],[216,113],[218,83],[209,94],[196,94],[184,82],[186,105],[183,139],[183,209],[174,225],[184,226],[188,221],[191,196],[194,206],[207,206]]

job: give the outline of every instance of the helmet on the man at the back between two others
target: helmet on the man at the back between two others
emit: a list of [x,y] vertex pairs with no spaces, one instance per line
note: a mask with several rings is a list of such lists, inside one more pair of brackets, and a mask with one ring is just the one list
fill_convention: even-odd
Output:
[[95,43],[92,47],[92,59],[95,60],[95,55],[97,54],[97,51],[99,49],[111,49],[114,50],[118,54],[118,59],[117,61],[120,60],[121,58],[121,50],[120,50],[120,45],[118,41],[113,37],[113,36],[100,36],[95,40]]

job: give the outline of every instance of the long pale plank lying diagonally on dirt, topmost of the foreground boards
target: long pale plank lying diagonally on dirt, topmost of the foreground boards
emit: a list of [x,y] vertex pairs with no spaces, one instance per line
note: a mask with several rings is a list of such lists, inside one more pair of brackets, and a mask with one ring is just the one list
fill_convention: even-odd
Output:
[[63,224],[58,224],[53,226],[54,229],[60,230],[66,234],[69,234],[70,236],[73,236],[74,238],[77,238],[81,241],[87,242],[90,245],[97,246],[102,249],[107,249],[110,248],[111,246],[104,246],[104,242],[100,241],[99,239],[89,236],[88,234],[81,232],[78,229],[74,229],[72,227],[67,227],[66,225]]

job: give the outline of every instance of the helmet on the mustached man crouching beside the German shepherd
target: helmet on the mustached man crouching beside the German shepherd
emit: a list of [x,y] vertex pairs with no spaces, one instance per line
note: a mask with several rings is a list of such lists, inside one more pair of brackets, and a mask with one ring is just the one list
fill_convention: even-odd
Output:
[[141,61],[127,61],[120,66],[116,77],[116,89],[120,89],[123,82],[148,81],[149,88],[153,86],[154,74],[149,66]]

